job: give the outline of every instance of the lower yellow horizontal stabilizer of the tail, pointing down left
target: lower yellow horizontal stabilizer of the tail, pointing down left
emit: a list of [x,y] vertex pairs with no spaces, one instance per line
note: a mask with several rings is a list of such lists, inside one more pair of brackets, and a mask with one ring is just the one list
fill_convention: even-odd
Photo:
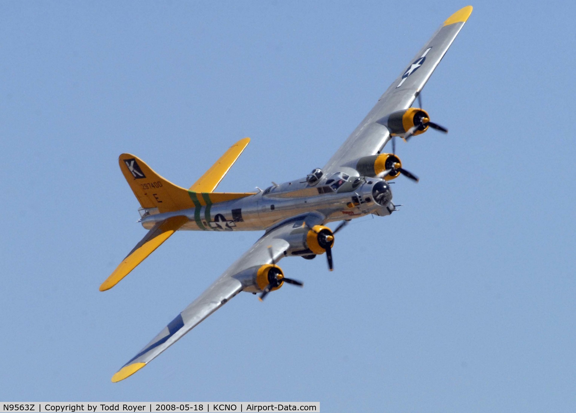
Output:
[[184,223],[188,221],[185,216],[175,216],[168,218],[162,222],[157,223],[154,227],[147,232],[146,236],[134,247],[130,254],[120,263],[114,272],[107,278],[106,281],[100,285],[100,291],[111,289],[118,284],[122,278],[126,277],[130,271],[144,261],[152,251],[160,247],[160,245],[174,234]]

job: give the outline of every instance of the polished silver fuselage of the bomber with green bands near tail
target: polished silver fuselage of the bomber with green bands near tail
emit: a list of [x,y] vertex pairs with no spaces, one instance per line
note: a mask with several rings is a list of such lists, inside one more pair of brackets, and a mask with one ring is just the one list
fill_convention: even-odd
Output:
[[[181,211],[157,213],[142,218],[142,226],[150,229],[157,222],[171,216],[186,216],[188,222],[180,230],[188,231],[259,231],[290,217],[314,212],[324,217],[324,223],[350,220],[371,213],[389,215],[392,192],[384,205],[374,201],[373,188],[378,178],[365,178],[357,188],[351,183],[343,185],[338,192],[324,185],[325,179],[309,186],[305,179],[272,186],[251,196],[217,204],[203,205]],[[327,191],[327,192],[324,192]]]

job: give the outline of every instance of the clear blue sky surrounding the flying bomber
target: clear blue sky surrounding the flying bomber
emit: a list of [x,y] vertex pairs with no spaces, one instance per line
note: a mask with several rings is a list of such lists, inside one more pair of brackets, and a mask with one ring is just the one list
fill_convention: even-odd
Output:
[[261,235],[179,232],[99,292],[145,234],[118,155],[190,186],[249,136],[219,190],[302,177],[465,5],[2,2],[0,400],[574,410],[572,2],[472,3],[422,94],[450,132],[399,144],[401,211],[110,381]]

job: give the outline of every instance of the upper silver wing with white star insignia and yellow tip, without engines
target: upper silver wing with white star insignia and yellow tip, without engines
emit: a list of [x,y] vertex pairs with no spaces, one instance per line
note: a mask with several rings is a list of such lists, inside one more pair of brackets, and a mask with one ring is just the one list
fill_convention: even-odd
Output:
[[471,13],[472,6],[458,10],[434,33],[411,60],[413,63],[388,87],[376,106],[324,166],[325,174],[337,172],[342,167],[354,167],[358,158],[376,155],[384,148],[390,133],[376,121],[397,110],[410,108]]

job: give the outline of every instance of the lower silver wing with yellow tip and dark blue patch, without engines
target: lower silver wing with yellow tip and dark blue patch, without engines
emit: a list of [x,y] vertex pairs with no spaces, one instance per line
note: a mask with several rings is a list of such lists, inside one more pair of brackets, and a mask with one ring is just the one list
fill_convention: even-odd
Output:
[[[211,313],[228,303],[232,297],[245,288],[253,287],[255,285],[253,274],[256,269],[264,264],[270,264],[272,257],[274,257],[274,262],[276,263],[284,257],[284,251],[290,246],[286,238],[292,231],[301,228],[304,221],[309,225],[316,225],[321,223],[322,220],[323,217],[318,215],[302,215],[287,219],[268,230],[214,284],[210,285],[184,311],[180,312],[175,319],[168,323],[168,326],[164,327],[160,334],[154,337],[122,369],[114,374],[112,381],[124,380],[124,378],[134,374],[156,358],[162,351],[173,345],[181,336],[198,326]],[[268,247],[271,247],[272,254],[268,251]]]

